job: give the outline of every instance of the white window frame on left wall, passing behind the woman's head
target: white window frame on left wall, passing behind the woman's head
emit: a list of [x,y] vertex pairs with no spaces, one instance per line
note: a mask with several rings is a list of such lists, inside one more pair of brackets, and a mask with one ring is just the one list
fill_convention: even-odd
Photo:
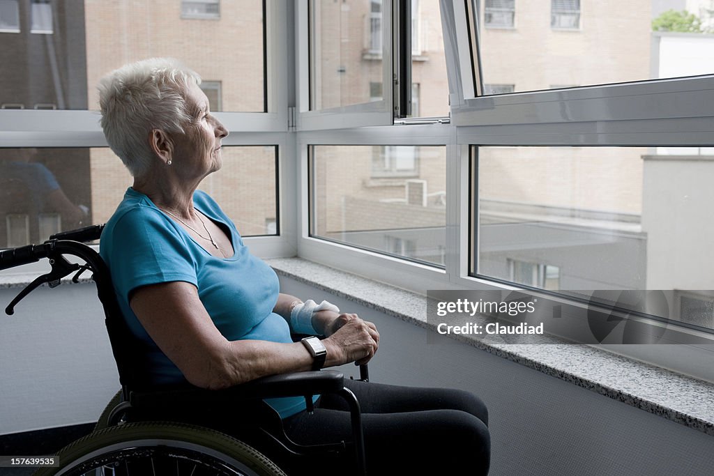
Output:
[[[296,254],[290,231],[296,228],[292,196],[295,196],[294,138],[288,131],[288,11],[282,0],[266,0],[266,99],[268,111],[217,112],[230,132],[226,146],[278,146],[277,217],[279,236],[246,237],[251,251],[262,258]],[[291,29],[289,31],[292,31]],[[16,147],[107,147],[98,111],[1,109],[0,144]],[[118,159],[117,159],[118,160]],[[44,263],[32,263],[0,272],[7,276],[42,273]]]

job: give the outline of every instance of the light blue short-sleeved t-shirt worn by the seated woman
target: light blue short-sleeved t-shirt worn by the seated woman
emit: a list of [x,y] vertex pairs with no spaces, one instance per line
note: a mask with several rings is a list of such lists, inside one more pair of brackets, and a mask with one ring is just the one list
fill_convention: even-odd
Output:
[[[279,293],[276,273],[248,252],[236,226],[210,196],[196,191],[193,206],[226,231],[235,250],[233,256],[216,258],[208,253],[149,197],[133,188],[126,191],[101,234],[100,254],[109,265],[121,312],[131,333],[142,343],[136,351],[145,354],[146,374],[157,386],[185,383],[186,379],[151,340],[129,306],[131,291],[141,286],[171,281],[195,285],[201,303],[227,340],[292,342],[288,323],[273,313]],[[303,397],[266,402],[283,418],[306,407]]]

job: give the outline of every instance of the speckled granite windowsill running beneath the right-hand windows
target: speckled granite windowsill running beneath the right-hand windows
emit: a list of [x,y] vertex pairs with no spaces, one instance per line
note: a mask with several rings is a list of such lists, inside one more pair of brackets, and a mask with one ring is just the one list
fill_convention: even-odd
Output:
[[[279,275],[296,279],[380,313],[435,330],[426,322],[426,298],[301,258],[268,260]],[[458,340],[605,395],[673,422],[714,435],[714,384],[608,353],[588,345],[487,343]]]

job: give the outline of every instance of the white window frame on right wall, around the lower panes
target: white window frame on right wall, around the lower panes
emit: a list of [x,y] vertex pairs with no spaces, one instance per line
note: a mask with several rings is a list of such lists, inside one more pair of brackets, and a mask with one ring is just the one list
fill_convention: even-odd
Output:
[[[440,0],[446,67],[451,97],[451,125],[415,124],[312,131],[297,134],[298,149],[298,256],[375,280],[389,276],[391,284],[425,293],[428,289],[523,290],[516,283],[496,282],[470,274],[471,223],[478,223],[478,208],[471,206],[472,167],[470,149],[476,146],[710,146],[714,113],[706,104],[714,101],[714,75],[683,79],[635,81],[562,89],[481,96],[483,85],[478,52],[478,24],[472,0]],[[675,111],[672,110],[677,103]],[[563,116],[563,110],[568,111]],[[522,123],[522,118],[534,118]],[[341,243],[309,236],[308,147],[311,144],[446,145],[446,267],[437,269],[411,263]],[[478,245],[478,233],[473,236]],[[476,249],[476,248],[473,248]],[[531,291],[529,291],[531,292]],[[536,296],[538,290],[533,290]],[[543,293],[543,296],[546,296]],[[553,299],[553,295],[547,295]],[[576,309],[585,308],[563,296],[555,300]],[[646,319],[645,319],[646,321]],[[652,322],[651,320],[648,322]],[[653,323],[657,325],[657,323]],[[714,335],[673,325],[673,331]],[[664,368],[714,381],[710,359],[714,345],[596,345],[595,347],[647,360]],[[670,351],[671,350],[671,351]],[[704,359],[705,364],[701,364]]]

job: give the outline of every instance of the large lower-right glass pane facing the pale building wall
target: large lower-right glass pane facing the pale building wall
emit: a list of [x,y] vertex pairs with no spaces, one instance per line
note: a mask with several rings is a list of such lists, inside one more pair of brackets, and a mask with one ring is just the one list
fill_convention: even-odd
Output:
[[[643,312],[710,322],[714,224],[706,217],[714,203],[714,156],[708,149],[479,147],[473,153],[478,275],[566,293],[663,291],[666,308],[630,298]],[[705,300],[680,299],[675,292],[683,290]],[[699,309],[699,317],[687,311],[680,318],[683,306]]]

